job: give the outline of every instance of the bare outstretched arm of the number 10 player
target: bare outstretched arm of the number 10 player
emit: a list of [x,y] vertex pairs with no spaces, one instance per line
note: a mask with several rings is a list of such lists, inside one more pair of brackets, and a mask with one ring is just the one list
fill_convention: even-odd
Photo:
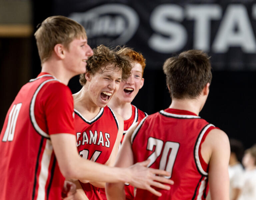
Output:
[[145,167],[148,162],[140,162],[129,168],[109,167],[80,157],[75,145],[76,136],[73,134],[52,134],[50,138],[60,171],[67,179],[128,182],[143,189],[149,188],[152,182],[155,184],[155,180],[172,184],[171,180],[155,176],[155,174],[169,176],[169,172],[148,169]]

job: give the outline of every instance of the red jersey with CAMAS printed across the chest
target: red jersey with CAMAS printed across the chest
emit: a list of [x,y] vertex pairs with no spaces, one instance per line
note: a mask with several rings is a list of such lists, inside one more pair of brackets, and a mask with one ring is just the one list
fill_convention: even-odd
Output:
[[[92,120],[85,119],[75,109],[76,145],[79,155],[85,159],[105,164],[114,147],[118,128],[118,120],[108,106],[101,108],[99,114]],[[90,183],[81,183],[81,186],[90,200],[102,199],[99,188]]]

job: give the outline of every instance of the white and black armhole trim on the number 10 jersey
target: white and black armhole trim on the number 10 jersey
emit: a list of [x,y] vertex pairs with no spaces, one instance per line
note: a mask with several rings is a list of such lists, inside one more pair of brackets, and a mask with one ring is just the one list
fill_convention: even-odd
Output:
[[[44,132],[40,127],[39,125],[37,124],[36,122],[36,117],[35,117],[35,102],[36,102],[36,97],[39,93],[39,91],[41,90],[41,88],[48,82],[50,81],[59,81],[58,79],[48,79],[46,81],[44,81],[43,83],[41,83],[38,88],[36,89],[36,92],[34,93],[33,95],[33,98],[31,100],[31,103],[30,103],[30,108],[29,108],[29,113],[30,113],[30,120],[35,128],[35,130],[40,134],[42,135],[43,137],[46,137],[46,138],[50,138],[49,134]],[[60,81],[59,81],[60,82]]]

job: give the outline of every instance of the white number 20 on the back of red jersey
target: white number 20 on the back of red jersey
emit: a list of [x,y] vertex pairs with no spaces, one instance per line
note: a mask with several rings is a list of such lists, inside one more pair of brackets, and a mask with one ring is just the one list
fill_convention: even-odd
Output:
[[154,152],[148,157],[148,159],[150,159],[150,163],[148,164],[148,167],[150,167],[156,161],[156,159],[160,156],[161,152],[163,151],[160,159],[160,163],[159,163],[159,169],[170,172],[171,176],[165,176],[165,177],[171,178],[172,168],[173,168],[180,144],[177,142],[171,142],[171,141],[166,141],[164,144],[164,142],[160,139],[149,137],[147,150],[153,151],[154,146],[155,146]]

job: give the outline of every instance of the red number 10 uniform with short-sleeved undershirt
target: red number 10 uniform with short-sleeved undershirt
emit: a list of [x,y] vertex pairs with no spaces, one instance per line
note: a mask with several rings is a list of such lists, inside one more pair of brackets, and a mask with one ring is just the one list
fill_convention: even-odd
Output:
[[70,89],[40,73],[11,104],[0,135],[0,199],[61,200],[65,178],[49,135],[74,132]]

